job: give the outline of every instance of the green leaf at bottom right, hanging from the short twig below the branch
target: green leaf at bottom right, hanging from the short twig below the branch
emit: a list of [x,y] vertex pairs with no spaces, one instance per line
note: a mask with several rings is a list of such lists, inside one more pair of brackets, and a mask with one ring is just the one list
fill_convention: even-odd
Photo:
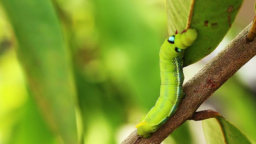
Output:
[[218,116],[202,121],[207,144],[252,144],[232,123]]

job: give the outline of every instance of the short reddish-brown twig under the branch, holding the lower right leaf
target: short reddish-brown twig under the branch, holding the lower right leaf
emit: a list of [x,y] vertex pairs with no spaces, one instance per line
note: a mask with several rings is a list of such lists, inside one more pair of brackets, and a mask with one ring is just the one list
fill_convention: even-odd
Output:
[[195,112],[194,115],[190,118],[190,120],[194,120],[194,121],[206,120],[208,118],[216,118],[217,116],[221,116],[221,115],[214,110],[202,110],[199,112]]

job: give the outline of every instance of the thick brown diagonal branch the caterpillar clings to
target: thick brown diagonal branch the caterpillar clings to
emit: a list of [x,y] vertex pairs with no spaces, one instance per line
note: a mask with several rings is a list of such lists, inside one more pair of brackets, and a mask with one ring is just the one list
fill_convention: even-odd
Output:
[[198,107],[208,99],[237,70],[256,55],[256,41],[246,42],[252,23],[249,24],[217,56],[208,62],[193,78],[184,84],[186,97],[176,113],[154,132],[151,138],[140,138],[137,129],[122,144],[160,144],[183,122],[191,119]]

